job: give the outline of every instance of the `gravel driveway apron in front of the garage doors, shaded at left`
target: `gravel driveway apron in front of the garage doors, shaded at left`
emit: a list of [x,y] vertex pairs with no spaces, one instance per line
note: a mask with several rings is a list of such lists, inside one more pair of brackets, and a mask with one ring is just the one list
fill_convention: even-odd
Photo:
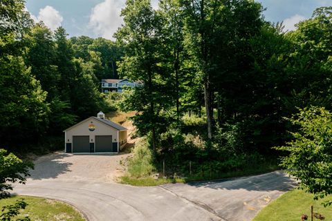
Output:
[[122,162],[127,157],[129,154],[52,153],[35,161],[35,170],[31,171],[28,180],[91,180],[115,183],[124,171]]

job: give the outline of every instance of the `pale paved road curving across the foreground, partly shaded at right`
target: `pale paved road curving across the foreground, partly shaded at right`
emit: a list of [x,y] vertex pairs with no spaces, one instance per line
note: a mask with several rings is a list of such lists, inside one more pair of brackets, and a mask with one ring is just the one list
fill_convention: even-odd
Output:
[[87,220],[252,220],[295,182],[277,171],[221,182],[137,187],[91,180],[28,179],[13,193],[68,202]]

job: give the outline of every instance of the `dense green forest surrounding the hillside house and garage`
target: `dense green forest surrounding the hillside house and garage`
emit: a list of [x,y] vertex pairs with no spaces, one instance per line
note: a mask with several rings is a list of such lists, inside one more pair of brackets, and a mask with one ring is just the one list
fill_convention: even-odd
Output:
[[[311,106],[331,110],[332,8],[284,30],[249,0],[127,0],[115,41],[68,38],[0,4],[0,146],[29,151],[99,111],[136,111],[152,164],[241,171],[277,160]],[[144,84],[100,93],[100,79]],[[114,97],[120,100],[112,100]],[[116,103],[117,105],[113,105]],[[53,148],[61,149],[60,142]],[[46,147],[50,148],[50,147]],[[147,150],[145,150],[147,151]]]

